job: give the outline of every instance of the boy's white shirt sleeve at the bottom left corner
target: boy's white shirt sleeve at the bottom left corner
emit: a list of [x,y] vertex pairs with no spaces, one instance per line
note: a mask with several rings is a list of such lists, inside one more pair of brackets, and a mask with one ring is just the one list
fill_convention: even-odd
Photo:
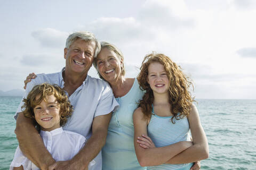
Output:
[[23,169],[31,169],[32,163],[27,157],[25,157],[25,155],[23,155],[20,147],[18,146],[10,165],[10,169],[13,169],[14,167],[20,167],[21,165],[23,166]]

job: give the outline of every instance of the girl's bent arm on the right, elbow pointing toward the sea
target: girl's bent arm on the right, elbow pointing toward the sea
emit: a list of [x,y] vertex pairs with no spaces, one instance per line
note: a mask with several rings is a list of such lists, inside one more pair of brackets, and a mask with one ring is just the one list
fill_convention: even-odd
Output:
[[182,151],[167,161],[167,164],[186,164],[197,162],[198,160],[209,157],[209,147],[204,129],[201,125],[196,106],[191,106],[191,112],[188,115],[189,127],[193,138],[193,146]]

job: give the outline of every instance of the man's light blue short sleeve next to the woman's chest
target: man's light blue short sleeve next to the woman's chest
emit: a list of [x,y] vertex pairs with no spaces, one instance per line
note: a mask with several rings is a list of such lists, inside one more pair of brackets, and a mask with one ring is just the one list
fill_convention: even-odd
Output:
[[117,103],[113,95],[112,89],[110,88],[109,84],[106,84],[106,86],[102,90],[94,117],[114,112],[116,111],[116,109],[118,109],[118,107],[119,104]]

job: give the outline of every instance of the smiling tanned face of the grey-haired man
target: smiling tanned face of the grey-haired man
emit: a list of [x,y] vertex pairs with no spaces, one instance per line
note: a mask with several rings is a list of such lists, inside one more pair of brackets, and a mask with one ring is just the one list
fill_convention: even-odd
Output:
[[87,74],[93,63],[95,42],[77,39],[69,48],[64,49],[66,70]]

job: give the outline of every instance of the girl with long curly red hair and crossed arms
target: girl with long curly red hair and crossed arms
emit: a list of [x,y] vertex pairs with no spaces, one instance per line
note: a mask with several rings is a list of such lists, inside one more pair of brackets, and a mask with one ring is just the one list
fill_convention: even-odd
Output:
[[[207,139],[192,104],[191,82],[163,54],[147,55],[138,75],[145,95],[134,111],[134,147],[147,169],[190,169],[209,156]],[[189,141],[189,129],[193,142]]]

